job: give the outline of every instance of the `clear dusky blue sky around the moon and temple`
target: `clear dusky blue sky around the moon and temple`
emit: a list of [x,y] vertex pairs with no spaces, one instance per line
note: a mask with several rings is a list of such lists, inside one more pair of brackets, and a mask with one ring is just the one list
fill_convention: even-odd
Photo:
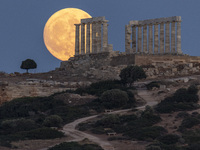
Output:
[[54,70],[60,60],[43,41],[43,29],[55,12],[79,8],[109,20],[108,42],[125,51],[125,25],[131,20],[181,16],[182,51],[200,56],[200,0],[0,0],[0,72],[25,72],[21,62],[33,59],[39,73]]

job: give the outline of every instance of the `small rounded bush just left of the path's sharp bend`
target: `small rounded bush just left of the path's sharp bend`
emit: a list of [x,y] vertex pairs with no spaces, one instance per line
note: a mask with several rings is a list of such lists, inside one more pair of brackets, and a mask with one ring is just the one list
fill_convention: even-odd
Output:
[[63,119],[58,115],[51,115],[45,118],[43,124],[46,127],[60,127],[63,122]]

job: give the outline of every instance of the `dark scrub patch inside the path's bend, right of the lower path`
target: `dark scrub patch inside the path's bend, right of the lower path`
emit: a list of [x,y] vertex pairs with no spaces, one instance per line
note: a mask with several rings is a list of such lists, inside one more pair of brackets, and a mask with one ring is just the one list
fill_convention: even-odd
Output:
[[80,124],[80,130],[91,129],[95,134],[116,132],[124,137],[134,140],[156,139],[166,133],[160,126],[154,126],[161,118],[154,113],[153,109],[146,107],[139,116],[132,115],[106,115],[93,124]]

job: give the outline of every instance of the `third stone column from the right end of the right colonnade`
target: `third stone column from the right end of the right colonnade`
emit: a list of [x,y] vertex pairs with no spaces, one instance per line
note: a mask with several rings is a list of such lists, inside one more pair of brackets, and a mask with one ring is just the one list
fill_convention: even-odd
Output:
[[165,53],[169,54],[170,53],[170,22],[167,22],[165,24]]

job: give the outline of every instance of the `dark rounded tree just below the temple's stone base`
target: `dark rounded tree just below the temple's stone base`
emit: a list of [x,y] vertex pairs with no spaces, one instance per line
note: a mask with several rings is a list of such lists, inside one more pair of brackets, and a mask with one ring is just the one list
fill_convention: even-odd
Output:
[[129,87],[131,87],[132,84],[138,79],[146,78],[144,70],[139,66],[127,66],[121,70],[119,76],[121,78],[121,82],[124,85],[128,84]]

